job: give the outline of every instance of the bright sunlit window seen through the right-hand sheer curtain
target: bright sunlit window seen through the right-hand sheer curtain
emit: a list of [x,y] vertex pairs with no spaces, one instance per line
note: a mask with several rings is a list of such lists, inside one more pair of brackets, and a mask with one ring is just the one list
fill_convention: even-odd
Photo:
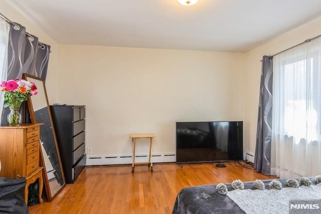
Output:
[[272,120],[296,143],[317,140],[321,133],[321,45],[310,43],[273,58]]

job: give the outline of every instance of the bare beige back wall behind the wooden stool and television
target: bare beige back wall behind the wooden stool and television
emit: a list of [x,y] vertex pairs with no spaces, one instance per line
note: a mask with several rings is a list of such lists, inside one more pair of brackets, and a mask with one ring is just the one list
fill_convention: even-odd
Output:
[[93,154],[150,132],[154,153],[175,153],[176,121],[244,119],[244,54],[60,45],[59,63],[59,102],[86,105]]

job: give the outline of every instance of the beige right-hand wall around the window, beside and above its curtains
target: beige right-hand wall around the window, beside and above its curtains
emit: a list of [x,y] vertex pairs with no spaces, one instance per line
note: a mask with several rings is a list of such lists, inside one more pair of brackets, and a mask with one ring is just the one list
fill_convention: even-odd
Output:
[[321,34],[321,17],[245,54],[244,148],[255,152],[262,56],[271,56]]

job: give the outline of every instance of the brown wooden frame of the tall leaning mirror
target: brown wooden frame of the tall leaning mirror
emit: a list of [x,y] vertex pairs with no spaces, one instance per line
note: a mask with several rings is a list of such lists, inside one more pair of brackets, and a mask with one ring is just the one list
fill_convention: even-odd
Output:
[[[51,190],[50,190],[50,185],[49,185],[49,180],[48,180],[45,160],[44,160],[44,153],[42,151],[43,146],[40,145],[40,149],[39,149],[40,150],[40,165],[44,167],[43,180],[44,180],[44,184],[45,184],[45,190],[46,190],[47,199],[50,202],[66,186],[66,180],[65,180],[65,175],[64,175],[64,170],[63,170],[63,167],[62,167],[62,163],[61,163],[61,158],[60,158],[59,147],[58,147],[58,143],[57,143],[55,127],[54,127],[54,124],[53,124],[52,115],[51,115],[51,111],[50,111],[50,105],[49,105],[49,102],[48,102],[48,96],[47,96],[47,91],[46,91],[46,87],[45,87],[45,80],[42,79],[42,78],[39,78],[39,77],[32,76],[30,74],[23,74],[23,79],[27,80],[29,82],[34,82],[33,79],[41,81],[42,84],[43,84],[44,95],[46,97],[47,109],[48,109],[49,118],[50,118],[50,125],[51,125],[52,131],[53,131],[54,143],[55,143],[55,146],[56,146],[56,152],[57,152],[57,156],[58,156],[58,160],[59,160],[59,166],[60,166],[62,179],[63,179],[63,185],[61,185],[61,188],[54,195],[52,195],[51,194]],[[39,94],[40,87],[37,86],[37,88],[38,88],[37,91],[38,91],[38,94]],[[28,103],[30,119],[31,119],[32,123],[44,123],[44,124],[46,124],[46,122],[48,123],[48,121],[36,121],[35,112],[34,112],[34,106],[33,106],[33,103],[32,103],[32,97],[28,98],[27,103]],[[40,126],[40,133],[41,133],[41,126]]]

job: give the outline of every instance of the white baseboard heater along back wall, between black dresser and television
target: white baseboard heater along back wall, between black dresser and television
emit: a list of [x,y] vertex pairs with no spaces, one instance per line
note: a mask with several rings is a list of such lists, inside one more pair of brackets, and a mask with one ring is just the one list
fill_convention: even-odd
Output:
[[[148,154],[136,154],[135,162],[148,162]],[[176,162],[175,153],[152,154],[153,163]],[[131,164],[132,154],[95,155],[87,154],[86,166]]]

